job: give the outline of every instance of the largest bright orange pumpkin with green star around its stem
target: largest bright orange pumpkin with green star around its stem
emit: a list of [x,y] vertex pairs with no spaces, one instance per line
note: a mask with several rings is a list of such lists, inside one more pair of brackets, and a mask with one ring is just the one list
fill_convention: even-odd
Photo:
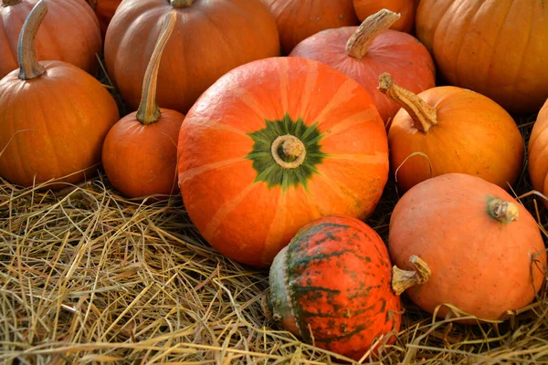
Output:
[[388,179],[388,143],[367,91],[301,57],[228,72],[188,111],[178,141],[184,207],[218,252],[266,267],[304,224],[365,218]]

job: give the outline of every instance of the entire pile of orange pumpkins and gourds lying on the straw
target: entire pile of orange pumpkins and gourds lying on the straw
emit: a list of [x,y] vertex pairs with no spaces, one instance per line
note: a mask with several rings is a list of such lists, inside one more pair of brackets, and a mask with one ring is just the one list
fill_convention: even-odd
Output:
[[[395,341],[404,291],[476,323],[542,287],[543,237],[507,193],[525,151],[509,112],[548,98],[541,2],[89,3],[0,0],[7,181],[60,189],[102,162],[128,197],[179,187],[209,244],[270,267],[272,318],[356,360]],[[136,110],[121,120],[101,52]],[[548,102],[528,151],[547,193]],[[389,175],[405,194],[385,245],[364,220]]]

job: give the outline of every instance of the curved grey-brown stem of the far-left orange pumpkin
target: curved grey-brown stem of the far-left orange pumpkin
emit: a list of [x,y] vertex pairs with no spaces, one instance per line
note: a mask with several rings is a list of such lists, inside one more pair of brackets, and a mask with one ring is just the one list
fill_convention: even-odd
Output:
[[44,0],[37,2],[28,16],[19,34],[17,43],[17,61],[19,63],[19,78],[27,80],[44,75],[46,68],[38,63],[35,37],[38,28],[47,14],[47,4]]

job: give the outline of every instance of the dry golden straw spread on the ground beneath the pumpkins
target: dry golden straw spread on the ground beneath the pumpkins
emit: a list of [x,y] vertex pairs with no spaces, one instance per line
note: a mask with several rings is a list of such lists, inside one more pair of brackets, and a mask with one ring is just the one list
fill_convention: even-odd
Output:
[[[520,123],[526,142],[532,119]],[[515,194],[531,191],[525,166]],[[367,220],[385,241],[396,201],[389,182]],[[538,196],[522,203],[548,237]],[[128,200],[104,175],[57,193],[0,179],[0,237],[0,363],[345,363],[265,317],[268,271],[218,255],[180,195]],[[548,364],[546,285],[530,308],[481,326],[403,299],[397,341],[364,363]]]

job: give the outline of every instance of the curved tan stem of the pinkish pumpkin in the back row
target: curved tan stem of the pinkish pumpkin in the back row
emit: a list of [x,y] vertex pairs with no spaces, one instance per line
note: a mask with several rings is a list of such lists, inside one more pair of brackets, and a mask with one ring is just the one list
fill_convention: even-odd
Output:
[[374,38],[390,28],[399,18],[399,14],[388,9],[381,9],[374,15],[367,16],[346,42],[346,54],[354,58],[364,57],[369,51]]

